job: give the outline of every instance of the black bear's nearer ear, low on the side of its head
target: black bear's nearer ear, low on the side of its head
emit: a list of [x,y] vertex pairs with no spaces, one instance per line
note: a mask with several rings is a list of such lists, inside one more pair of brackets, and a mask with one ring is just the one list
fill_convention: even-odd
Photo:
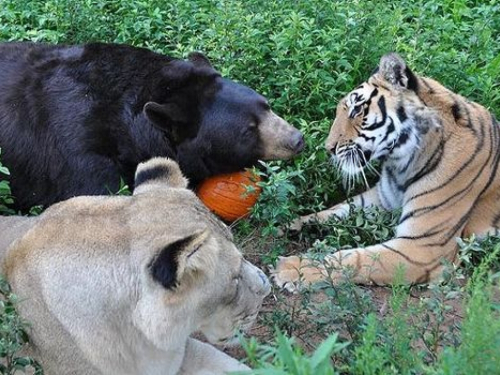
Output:
[[175,103],[147,102],[143,108],[146,118],[158,129],[166,132],[174,143],[182,141],[181,129],[188,123],[188,115]]

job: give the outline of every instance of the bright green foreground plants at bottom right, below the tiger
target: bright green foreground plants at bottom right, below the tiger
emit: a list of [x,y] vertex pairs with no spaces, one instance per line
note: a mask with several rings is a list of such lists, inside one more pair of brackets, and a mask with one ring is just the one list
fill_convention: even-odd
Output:
[[[408,287],[396,287],[389,299],[389,313],[381,317],[373,307],[357,309],[363,314],[354,330],[336,325],[334,331],[324,332],[324,341],[312,353],[304,352],[293,339],[286,339],[277,330],[271,343],[258,343],[255,339],[243,341],[248,360],[256,369],[249,374],[499,374],[500,373],[500,309],[498,305],[498,276],[489,274],[490,262],[498,259],[500,246],[492,252],[474,272],[465,288],[450,284],[433,285],[434,293],[412,302]],[[351,286],[344,286],[347,290]],[[437,291],[439,290],[439,291]],[[324,291],[324,290],[323,290]],[[441,296],[440,296],[441,295]],[[445,311],[458,295],[463,302],[463,320],[458,326],[442,326]],[[444,298],[442,298],[444,297]],[[440,308],[436,304],[442,303]],[[342,311],[354,304],[335,302]],[[434,308],[432,307],[434,306]],[[305,311],[314,319],[309,305]],[[371,311],[370,311],[371,310]],[[324,330],[317,324],[306,323],[310,330]],[[446,331],[445,328],[448,330]],[[328,349],[327,349],[328,348]],[[322,352],[329,360],[314,367],[314,359]],[[325,354],[326,353],[326,354]]]

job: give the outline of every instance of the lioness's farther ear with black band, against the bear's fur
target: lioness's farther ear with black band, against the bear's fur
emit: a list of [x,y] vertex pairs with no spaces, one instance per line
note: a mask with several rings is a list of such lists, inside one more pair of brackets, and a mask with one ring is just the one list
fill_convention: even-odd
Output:
[[188,180],[173,160],[153,158],[137,166],[134,185],[135,195],[150,187],[187,188]]

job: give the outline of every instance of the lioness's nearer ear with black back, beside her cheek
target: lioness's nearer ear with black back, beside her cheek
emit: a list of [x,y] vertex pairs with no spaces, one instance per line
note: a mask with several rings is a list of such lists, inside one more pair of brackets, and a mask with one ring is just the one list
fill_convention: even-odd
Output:
[[164,288],[177,286],[184,272],[196,268],[195,254],[205,244],[210,235],[208,229],[198,230],[184,238],[178,239],[163,248],[149,265],[153,279]]

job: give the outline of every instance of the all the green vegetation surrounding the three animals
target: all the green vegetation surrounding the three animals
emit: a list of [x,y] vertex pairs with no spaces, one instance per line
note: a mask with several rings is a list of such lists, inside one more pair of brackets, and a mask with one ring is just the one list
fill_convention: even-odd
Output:
[[[234,227],[247,256],[263,267],[281,254],[392,234],[397,212],[358,212],[275,237],[298,214],[345,198],[323,142],[337,101],[381,55],[398,52],[417,73],[500,115],[498,0],[0,0],[0,40],[127,43],[177,57],[198,50],[223,75],[265,95],[305,133],[307,147],[291,162],[261,166],[260,201]],[[0,196],[9,212],[6,181]],[[363,288],[346,277],[299,296],[276,290],[242,356],[259,368],[255,374],[500,374],[498,243],[460,241],[462,267],[450,265],[429,287]],[[10,302],[4,307],[0,355],[10,367],[0,371],[7,374],[32,363],[14,360],[11,344],[25,338],[9,333],[25,325],[12,319]]]

